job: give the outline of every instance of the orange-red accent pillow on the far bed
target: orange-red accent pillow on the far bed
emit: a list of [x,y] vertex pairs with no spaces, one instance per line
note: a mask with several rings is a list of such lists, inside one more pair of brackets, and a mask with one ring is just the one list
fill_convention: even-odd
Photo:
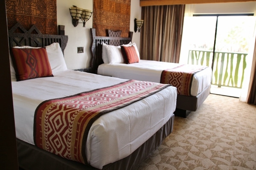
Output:
[[121,45],[121,50],[126,64],[139,62],[139,57],[133,45],[128,47]]

